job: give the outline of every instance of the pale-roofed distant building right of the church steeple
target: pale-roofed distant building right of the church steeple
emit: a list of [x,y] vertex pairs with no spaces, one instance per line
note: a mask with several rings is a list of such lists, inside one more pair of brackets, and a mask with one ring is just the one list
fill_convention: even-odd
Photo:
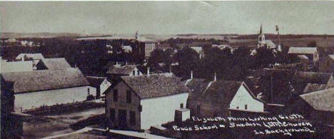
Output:
[[319,61],[319,53],[316,47],[290,47],[288,54],[292,56],[305,55],[310,61]]

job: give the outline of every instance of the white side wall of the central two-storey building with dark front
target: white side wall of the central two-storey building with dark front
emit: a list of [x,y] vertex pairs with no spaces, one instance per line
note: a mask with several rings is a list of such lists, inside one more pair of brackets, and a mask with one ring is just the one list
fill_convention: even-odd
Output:
[[181,103],[183,103],[183,107],[186,107],[187,99],[188,93],[142,99],[141,129],[173,121],[175,110],[180,108]]

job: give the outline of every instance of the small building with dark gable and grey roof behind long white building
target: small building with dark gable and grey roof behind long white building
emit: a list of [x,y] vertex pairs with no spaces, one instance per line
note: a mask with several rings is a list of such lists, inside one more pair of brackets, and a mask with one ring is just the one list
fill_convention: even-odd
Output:
[[44,58],[34,66],[36,70],[58,70],[64,68],[71,68],[65,58]]

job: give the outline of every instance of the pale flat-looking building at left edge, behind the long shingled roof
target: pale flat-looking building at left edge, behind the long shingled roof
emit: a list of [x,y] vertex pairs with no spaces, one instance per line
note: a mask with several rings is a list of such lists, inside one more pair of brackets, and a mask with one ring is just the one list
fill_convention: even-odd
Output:
[[0,73],[33,71],[32,61],[4,61],[1,60]]

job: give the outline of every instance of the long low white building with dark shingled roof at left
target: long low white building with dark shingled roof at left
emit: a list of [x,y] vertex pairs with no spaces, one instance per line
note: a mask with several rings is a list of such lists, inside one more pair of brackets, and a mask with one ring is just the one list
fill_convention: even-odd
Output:
[[1,73],[2,81],[1,88],[8,88],[5,93],[15,96],[16,111],[85,101],[95,92],[79,68]]

